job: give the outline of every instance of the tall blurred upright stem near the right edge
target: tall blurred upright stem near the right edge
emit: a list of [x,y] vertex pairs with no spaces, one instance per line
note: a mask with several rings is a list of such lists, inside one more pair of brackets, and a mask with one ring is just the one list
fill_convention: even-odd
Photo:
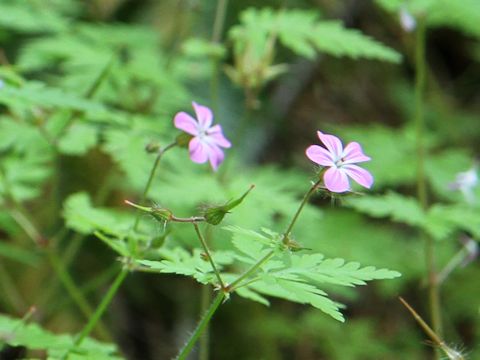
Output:
[[[426,25],[425,19],[419,18],[415,39],[415,127],[417,140],[417,197],[424,210],[428,209],[427,181],[425,177],[425,145],[424,145],[424,95],[426,85]],[[442,334],[442,319],[440,308],[440,289],[437,279],[435,244],[432,237],[423,233],[425,239],[425,258],[428,271],[428,298],[430,317],[435,333]],[[437,358],[438,353],[437,353]]]

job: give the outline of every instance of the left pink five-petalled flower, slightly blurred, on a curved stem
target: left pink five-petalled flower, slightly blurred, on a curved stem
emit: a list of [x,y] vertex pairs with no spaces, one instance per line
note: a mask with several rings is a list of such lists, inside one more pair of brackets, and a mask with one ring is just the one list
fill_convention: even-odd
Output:
[[190,159],[200,164],[210,161],[213,170],[217,170],[224,159],[222,148],[232,145],[223,136],[220,125],[212,126],[212,110],[196,102],[192,105],[197,118],[194,119],[183,111],[179,112],[173,120],[175,127],[193,136],[188,144]]

